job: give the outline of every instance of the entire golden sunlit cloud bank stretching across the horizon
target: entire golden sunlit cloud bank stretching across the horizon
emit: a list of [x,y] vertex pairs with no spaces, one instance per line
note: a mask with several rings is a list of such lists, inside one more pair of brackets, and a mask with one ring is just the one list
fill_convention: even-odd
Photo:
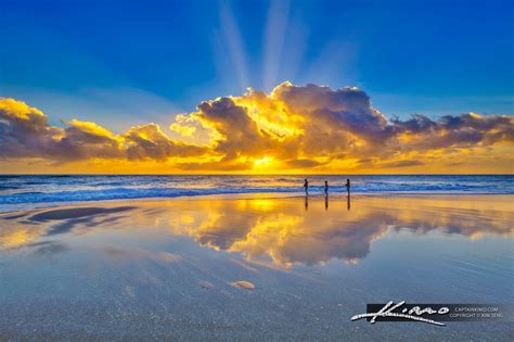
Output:
[[0,159],[152,161],[179,172],[424,172],[466,155],[480,165],[503,159],[505,169],[513,124],[511,115],[476,113],[388,119],[359,88],[283,83],[270,93],[248,89],[200,103],[195,112],[176,116],[170,129],[182,138],[171,139],[153,123],[121,135],[77,119],[51,126],[38,109],[0,98]]

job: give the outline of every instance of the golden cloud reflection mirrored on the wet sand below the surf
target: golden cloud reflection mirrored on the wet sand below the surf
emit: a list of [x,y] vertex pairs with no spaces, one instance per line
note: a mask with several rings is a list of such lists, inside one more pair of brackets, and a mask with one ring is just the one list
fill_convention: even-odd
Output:
[[[305,201],[301,205],[301,201]],[[512,237],[514,213],[509,197],[349,197],[250,200],[175,200],[41,210],[0,216],[0,250],[68,249],[79,236],[113,230],[149,237],[189,237],[217,251],[241,253],[248,259],[293,264],[323,264],[337,258],[358,263],[370,246],[389,231],[407,229],[478,239],[484,235]],[[310,204],[310,206],[309,206]],[[308,208],[308,210],[307,210]],[[63,237],[66,241],[49,242]],[[119,251],[106,250],[111,255]],[[159,258],[163,255],[158,256]],[[168,256],[166,256],[168,257]],[[165,258],[166,258],[165,257]]]

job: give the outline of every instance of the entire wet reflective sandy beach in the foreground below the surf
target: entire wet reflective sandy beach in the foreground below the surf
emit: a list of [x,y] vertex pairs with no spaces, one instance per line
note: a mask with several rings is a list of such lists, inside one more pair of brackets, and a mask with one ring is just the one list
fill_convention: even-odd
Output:
[[350,321],[514,303],[513,195],[177,199],[0,216],[0,340],[512,340],[512,322]]

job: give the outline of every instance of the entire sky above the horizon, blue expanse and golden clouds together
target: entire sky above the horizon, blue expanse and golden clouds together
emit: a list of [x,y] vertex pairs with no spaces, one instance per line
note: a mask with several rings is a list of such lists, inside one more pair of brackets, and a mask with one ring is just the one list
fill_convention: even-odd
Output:
[[0,27],[0,173],[512,173],[513,1],[3,0]]

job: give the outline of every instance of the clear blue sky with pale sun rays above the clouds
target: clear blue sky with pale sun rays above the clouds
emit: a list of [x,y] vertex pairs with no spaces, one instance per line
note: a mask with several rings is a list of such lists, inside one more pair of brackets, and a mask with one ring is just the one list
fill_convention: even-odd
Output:
[[123,131],[284,80],[514,114],[513,1],[0,2],[0,96]]

